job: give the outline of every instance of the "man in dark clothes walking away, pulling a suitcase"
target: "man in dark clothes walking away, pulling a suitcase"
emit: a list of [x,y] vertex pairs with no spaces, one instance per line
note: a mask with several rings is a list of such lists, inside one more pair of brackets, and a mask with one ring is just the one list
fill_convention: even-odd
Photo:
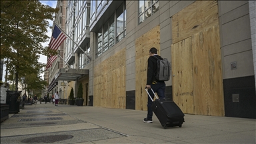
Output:
[[[157,55],[157,49],[152,47],[149,50],[149,59],[147,59],[147,89],[153,89],[157,93],[159,99],[165,98],[165,81],[158,81],[155,78],[155,73],[157,72],[157,58],[160,56]],[[149,91],[150,96],[154,99],[154,94],[152,91]],[[152,101],[150,97],[147,97],[147,117],[143,119],[144,123],[153,123],[153,110],[151,109]]]

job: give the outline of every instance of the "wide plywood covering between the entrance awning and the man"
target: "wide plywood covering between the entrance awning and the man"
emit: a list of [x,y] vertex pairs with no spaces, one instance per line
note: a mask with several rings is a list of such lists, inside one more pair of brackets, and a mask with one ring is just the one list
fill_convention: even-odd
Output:
[[125,109],[125,48],[94,68],[94,99],[96,107]]

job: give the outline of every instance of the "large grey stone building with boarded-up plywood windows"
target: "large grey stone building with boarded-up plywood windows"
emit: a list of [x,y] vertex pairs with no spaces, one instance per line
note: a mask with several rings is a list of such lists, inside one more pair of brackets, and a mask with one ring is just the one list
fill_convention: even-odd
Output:
[[73,41],[56,79],[75,95],[82,83],[84,105],[147,111],[156,47],[171,61],[165,97],[184,113],[256,118],[255,2],[67,1],[66,9]]

